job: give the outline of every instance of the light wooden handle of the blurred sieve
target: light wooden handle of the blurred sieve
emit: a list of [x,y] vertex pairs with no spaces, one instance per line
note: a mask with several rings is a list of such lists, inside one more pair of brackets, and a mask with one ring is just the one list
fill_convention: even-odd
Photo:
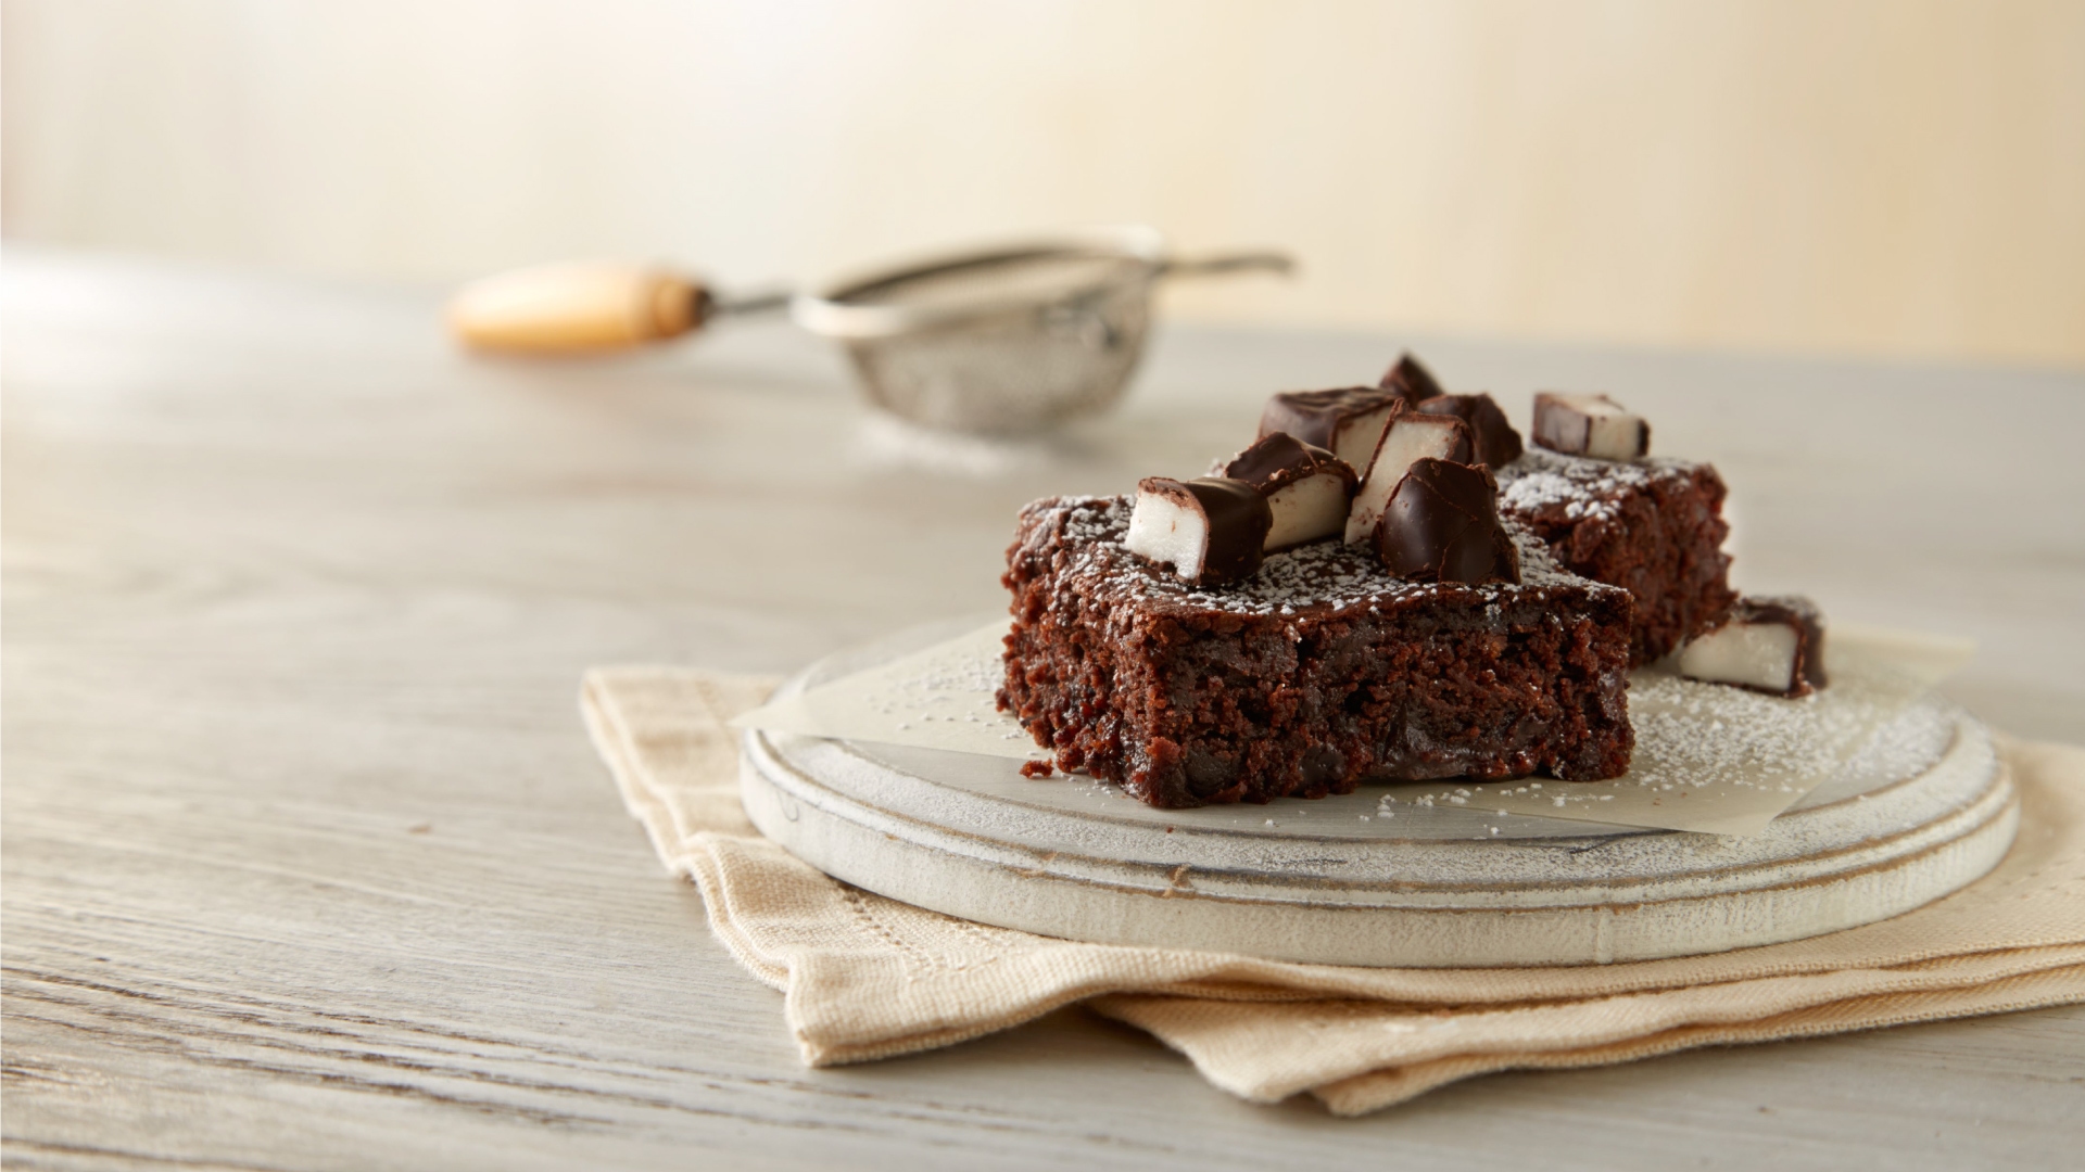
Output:
[[698,329],[709,292],[636,265],[542,265],[463,286],[448,327],[480,350],[628,350]]

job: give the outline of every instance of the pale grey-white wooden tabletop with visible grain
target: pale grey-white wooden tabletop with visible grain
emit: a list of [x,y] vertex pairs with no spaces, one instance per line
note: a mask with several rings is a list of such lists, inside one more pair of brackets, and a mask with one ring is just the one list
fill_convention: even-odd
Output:
[[[1174,329],[1113,419],[972,473],[744,327],[467,361],[434,292],[4,267],[4,1155],[21,1168],[2054,1166],[2085,1009],[1238,1103],[1078,1009],[805,1070],[594,761],[580,672],[784,672],[1001,605],[1013,509],[1191,473],[1414,342],[1605,388],[1735,488],[1737,576],[1983,640],[2085,740],[2085,377]],[[886,438],[888,440],[888,438]],[[978,457],[978,453],[970,453]]]

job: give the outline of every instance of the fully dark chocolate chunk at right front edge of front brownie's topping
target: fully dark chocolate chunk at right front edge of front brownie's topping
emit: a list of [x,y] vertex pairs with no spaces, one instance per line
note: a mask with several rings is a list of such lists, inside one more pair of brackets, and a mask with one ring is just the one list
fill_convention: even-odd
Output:
[[1499,523],[1499,482],[1482,465],[1412,461],[1376,521],[1376,555],[1399,578],[1520,582],[1520,551]]

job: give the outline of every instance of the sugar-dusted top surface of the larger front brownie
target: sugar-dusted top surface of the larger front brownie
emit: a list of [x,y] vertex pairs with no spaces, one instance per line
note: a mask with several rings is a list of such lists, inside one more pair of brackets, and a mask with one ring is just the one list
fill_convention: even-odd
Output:
[[1549,546],[1512,519],[1503,526],[1520,553],[1518,586],[1407,582],[1384,569],[1372,548],[1328,540],[1270,553],[1259,571],[1243,582],[1195,588],[1126,551],[1122,538],[1128,526],[1128,496],[1051,496],[1022,511],[1022,532],[1030,534],[1030,542],[1049,542],[1059,557],[1074,559],[1063,578],[1082,580],[1095,599],[1136,603],[1153,615],[1328,617],[1449,599],[1493,603],[1545,586],[1612,590],[1560,569]]

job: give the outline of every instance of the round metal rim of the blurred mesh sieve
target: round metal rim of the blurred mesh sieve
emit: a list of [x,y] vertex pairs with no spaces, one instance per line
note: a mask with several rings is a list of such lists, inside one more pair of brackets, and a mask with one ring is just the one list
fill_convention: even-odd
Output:
[[[970,304],[859,304],[844,298],[876,286],[899,284],[936,273],[953,273],[1007,261],[1038,257],[1099,257],[1124,261],[1122,273],[1057,290],[1049,296],[990,296]],[[894,269],[878,269],[834,282],[815,294],[790,298],[796,325],[838,340],[899,338],[926,329],[972,325],[1007,315],[1076,302],[1113,292],[1132,282],[1151,282],[1166,271],[1166,238],[1140,223],[1074,227],[1028,242],[1001,242],[990,248],[945,252]]]

